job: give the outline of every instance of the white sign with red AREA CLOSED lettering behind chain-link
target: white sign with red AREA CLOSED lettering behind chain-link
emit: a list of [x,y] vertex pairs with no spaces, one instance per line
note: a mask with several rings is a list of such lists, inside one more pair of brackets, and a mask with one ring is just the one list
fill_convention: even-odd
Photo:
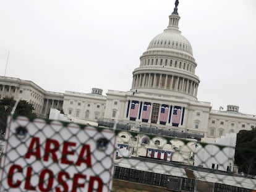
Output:
[[111,191],[113,130],[17,117],[6,138],[0,191]]

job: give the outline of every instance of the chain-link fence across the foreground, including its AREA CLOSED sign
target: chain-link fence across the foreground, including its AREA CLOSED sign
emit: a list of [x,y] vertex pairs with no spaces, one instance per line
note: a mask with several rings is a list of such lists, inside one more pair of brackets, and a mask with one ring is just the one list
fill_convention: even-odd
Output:
[[10,122],[0,143],[0,191],[256,190],[256,152],[235,148],[236,135],[216,144],[27,117]]

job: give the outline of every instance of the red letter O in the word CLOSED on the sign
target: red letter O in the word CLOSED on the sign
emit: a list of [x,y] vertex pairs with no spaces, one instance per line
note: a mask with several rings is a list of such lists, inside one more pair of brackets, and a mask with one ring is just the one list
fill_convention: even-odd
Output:
[[[45,175],[48,174],[49,177],[45,178]],[[43,191],[51,191],[53,188],[53,179],[54,175],[53,172],[49,169],[45,169],[40,173],[40,178],[39,178],[39,185],[38,188]],[[48,183],[46,183],[48,181]],[[46,185],[46,188],[44,188],[44,184]]]

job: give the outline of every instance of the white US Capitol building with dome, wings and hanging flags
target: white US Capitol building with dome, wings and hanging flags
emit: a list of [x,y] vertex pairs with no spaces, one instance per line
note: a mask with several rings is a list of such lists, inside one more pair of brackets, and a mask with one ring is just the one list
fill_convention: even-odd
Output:
[[[62,109],[74,122],[99,123],[121,128],[140,127],[219,138],[256,127],[254,115],[242,114],[239,106],[220,111],[210,102],[197,100],[199,77],[192,46],[179,31],[177,4],[169,24],[156,35],[132,72],[130,91],[92,88],[92,93],[45,91],[33,81],[0,77],[0,97],[21,98],[33,104],[36,114],[48,118],[50,109]],[[59,114],[61,115],[61,114]],[[165,132],[163,132],[165,131]]]

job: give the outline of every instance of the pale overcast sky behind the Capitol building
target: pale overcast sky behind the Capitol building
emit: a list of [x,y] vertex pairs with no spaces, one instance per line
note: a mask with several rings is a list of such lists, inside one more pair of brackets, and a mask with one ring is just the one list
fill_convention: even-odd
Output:
[[[174,0],[1,0],[0,75],[61,93],[128,91],[173,8]],[[256,114],[256,1],[179,0],[178,12],[197,62],[198,100]]]

